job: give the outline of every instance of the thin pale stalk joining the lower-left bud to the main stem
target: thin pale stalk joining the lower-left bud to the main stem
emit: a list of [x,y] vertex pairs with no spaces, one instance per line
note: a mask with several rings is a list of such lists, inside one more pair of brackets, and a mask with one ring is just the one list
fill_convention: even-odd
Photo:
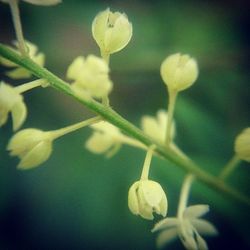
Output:
[[97,116],[97,117],[90,118],[88,120],[85,120],[85,121],[78,122],[76,124],[67,126],[65,128],[57,129],[57,130],[54,130],[54,131],[49,131],[49,133],[51,135],[50,138],[52,140],[55,140],[55,139],[57,139],[57,138],[59,138],[61,136],[64,136],[64,135],[68,134],[68,133],[74,132],[74,131],[76,131],[76,130],[78,130],[80,128],[92,125],[92,124],[97,123],[97,122],[102,121],[102,120],[103,119],[100,116]]

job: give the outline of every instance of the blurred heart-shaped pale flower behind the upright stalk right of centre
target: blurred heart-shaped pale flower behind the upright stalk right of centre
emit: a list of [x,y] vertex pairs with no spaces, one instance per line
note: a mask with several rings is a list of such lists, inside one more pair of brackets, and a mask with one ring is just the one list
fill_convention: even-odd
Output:
[[[156,117],[145,115],[141,119],[141,127],[145,134],[149,135],[156,141],[164,143],[166,138],[168,116],[164,110],[159,110]],[[171,137],[175,135],[175,125],[173,123]]]

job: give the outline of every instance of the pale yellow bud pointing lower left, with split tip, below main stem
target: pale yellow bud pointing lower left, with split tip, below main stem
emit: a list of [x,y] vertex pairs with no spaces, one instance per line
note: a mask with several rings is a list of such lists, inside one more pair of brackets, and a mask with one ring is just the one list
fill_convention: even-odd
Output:
[[16,133],[8,144],[11,156],[18,156],[19,169],[34,168],[45,162],[52,152],[52,139],[49,132],[39,129],[24,129]]

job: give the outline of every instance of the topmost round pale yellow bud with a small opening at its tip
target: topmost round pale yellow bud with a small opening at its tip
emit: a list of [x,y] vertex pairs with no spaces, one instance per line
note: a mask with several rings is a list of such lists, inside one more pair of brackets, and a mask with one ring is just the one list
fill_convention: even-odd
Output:
[[92,23],[93,37],[102,54],[112,54],[123,49],[132,37],[132,24],[125,14],[100,12]]

